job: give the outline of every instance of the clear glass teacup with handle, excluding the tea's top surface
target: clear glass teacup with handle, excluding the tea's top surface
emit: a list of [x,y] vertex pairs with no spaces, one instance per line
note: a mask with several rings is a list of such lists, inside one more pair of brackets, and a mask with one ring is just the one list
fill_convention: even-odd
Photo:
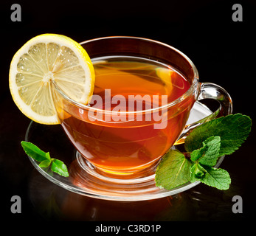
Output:
[[[97,178],[138,182],[138,179],[153,176],[162,156],[174,144],[184,142],[192,128],[216,116],[232,113],[229,94],[213,83],[200,83],[193,62],[172,46],[124,36],[96,38],[81,45],[93,63],[109,57],[143,58],[172,66],[190,83],[184,94],[166,105],[142,111],[113,112],[77,103],[53,82],[55,106],[63,130],[76,147],[83,170]],[[202,99],[217,100],[220,107],[205,119],[186,125],[194,103]],[[99,119],[91,119],[95,113]],[[161,114],[162,119],[146,119],[155,114],[156,117]],[[164,126],[157,128],[159,124]]]

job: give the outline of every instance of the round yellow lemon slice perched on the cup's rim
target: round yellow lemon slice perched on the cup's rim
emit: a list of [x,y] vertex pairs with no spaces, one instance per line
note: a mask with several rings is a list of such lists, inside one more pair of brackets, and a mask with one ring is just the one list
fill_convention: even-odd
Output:
[[9,86],[18,108],[46,125],[59,123],[52,80],[72,100],[86,104],[94,90],[94,68],[86,50],[71,38],[38,35],[14,55]]

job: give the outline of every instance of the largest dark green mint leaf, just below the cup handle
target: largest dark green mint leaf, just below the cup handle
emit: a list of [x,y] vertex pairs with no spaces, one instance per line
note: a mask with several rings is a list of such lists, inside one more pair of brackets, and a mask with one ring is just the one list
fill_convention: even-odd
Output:
[[252,120],[242,114],[230,114],[226,117],[212,119],[195,128],[185,139],[187,152],[199,149],[204,140],[210,136],[221,137],[219,156],[229,155],[246,140],[251,131]]

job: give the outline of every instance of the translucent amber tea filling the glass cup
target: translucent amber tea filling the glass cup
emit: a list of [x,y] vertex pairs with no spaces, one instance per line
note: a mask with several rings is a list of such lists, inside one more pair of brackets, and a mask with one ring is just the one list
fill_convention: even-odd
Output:
[[[92,110],[66,110],[70,115],[61,123],[69,139],[83,157],[106,173],[131,174],[153,166],[187,122],[194,98],[171,109],[167,104],[181,97],[190,83],[175,68],[145,58],[103,57],[94,58],[93,63]],[[165,109],[157,110],[163,105]]]

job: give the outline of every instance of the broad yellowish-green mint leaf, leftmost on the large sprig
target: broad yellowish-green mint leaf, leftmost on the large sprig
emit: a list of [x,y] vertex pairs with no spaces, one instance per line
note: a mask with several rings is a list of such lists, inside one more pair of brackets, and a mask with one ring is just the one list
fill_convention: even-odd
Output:
[[156,168],[156,186],[171,190],[190,181],[190,160],[179,150],[170,150]]

